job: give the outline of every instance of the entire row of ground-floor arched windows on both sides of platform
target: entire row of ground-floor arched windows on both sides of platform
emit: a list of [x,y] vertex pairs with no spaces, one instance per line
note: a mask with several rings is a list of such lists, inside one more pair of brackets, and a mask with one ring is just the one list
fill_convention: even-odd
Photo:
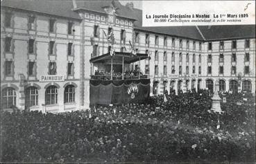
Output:
[[[191,89],[195,89],[195,80],[191,81]],[[170,83],[170,89],[174,89],[174,81]],[[186,81],[186,87],[188,90],[189,80]],[[206,87],[213,91],[213,81],[206,80]],[[178,90],[182,88],[182,80],[178,81]],[[157,89],[157,83],[153,84],[153,93]],[[200,80],[198,80],[198,89],[200,89]],[[238,91],[238,82],[236,80],[230,80],[230,90]],[[248,80],[242,82],[243,91],[252,91],[252,84]],[[219,91],[225,91],[225,81],[219,80]],[[1,107],[2,109],[8,109],[16,106],[16,91],[12,87],[7,87],[1,92]],[[75,102],[75,86],[67,85],[64,91],[64,103]],[[57,86],[48,86],[45,91],[45,104],[58,104],[58,88]],[[25,89],[25,106],[33,107],[38,105],[38,89],[35,86],[29,86]]]

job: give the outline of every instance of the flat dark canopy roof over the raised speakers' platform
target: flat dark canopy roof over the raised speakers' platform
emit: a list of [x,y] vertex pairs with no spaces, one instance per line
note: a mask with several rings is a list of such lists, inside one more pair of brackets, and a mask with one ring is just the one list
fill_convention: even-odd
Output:
[[108,63],[111,62],[111,60],[114,60],[117,63],[124,62],[125,64],[130,64],[139,60],[145,60],[147,58],[148,54],[146,53],[137,53],[136,55],[133,55],[131,53],[115,52],[115,55],[113,56],[111,56],[110,53],[105,53],[101,56],[93,57],[91,60],[89,60],[89,62]]

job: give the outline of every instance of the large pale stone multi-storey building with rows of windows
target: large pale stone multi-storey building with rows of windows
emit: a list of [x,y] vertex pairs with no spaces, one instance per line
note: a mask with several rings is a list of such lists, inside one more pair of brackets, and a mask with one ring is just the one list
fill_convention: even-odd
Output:
[[109,64],[93,57],[133,43],[146,60],[126,64],[164,90],[255,93],[255,26],[142,27],[142,10],[119,1],[1,1],[1,109],[62,112],[89,107],[89,80]]

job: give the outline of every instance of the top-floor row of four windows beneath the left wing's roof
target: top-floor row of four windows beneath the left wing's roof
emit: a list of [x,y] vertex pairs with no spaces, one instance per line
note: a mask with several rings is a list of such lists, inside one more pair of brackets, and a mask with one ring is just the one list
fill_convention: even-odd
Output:
[[[49,32],[50,33],[55,33],[55,25],[56,24],[56,19],[49,19]],[[6,12],[5,15],[5,26],[6,28],[12,28],[12,13],[11,12]],[[34,15],[29,15],[28,16],[28,30],[35,30],[35,16]],[[75,32],[74,30],[74,22],[67,22],[67,33],[69,35],[73,35]]]

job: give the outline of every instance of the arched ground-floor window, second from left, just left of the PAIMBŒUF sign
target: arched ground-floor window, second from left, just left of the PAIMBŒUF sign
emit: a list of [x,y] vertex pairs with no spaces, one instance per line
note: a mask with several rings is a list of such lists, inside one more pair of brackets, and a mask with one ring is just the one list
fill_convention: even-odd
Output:
[[38,105],[38,89],[35,86],[29,86],[25,89],[25,106],[32,107]]

